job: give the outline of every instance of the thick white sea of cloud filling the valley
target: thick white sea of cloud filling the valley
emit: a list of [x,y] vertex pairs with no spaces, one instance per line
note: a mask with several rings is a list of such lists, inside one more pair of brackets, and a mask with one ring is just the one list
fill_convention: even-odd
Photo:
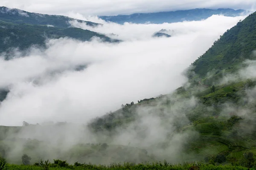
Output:
[[[0,124],[87,122],[121,104],[167,94],[186,82],[182,71],[243,18],[213,16],[162,25],[109,23],[93,31],[119,34],[125,42],[50,40],[46,51],[33,49],[23,58],[2,59],[0,87],[11,85],[11,92],[0,105]],[[162,28],[175,34],[151,38]],[[70,70],[87,64],[83,71]]]

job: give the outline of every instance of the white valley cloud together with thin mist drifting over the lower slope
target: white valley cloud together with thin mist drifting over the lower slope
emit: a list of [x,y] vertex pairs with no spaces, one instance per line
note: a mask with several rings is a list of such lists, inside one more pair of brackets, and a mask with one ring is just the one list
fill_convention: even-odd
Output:
[[[0,88],[8,88],[10,92],[0,103],[0,124],[21,126],[23,121],[40,124],[22,127],[18,139],[12,143],[15,147],[10,148],[6,157],[18,160],[21,154],[28,153],[34,162],[43,158],[96,164],[187,160],[191,155],[185,152],[185,146],[198,133],[180,128],[192,125],[186,113],[200,103],[193,95],[183,99],[173,92],[182,85],[186,87],[188,79],[183,71],[190,63],[244,18],[214,15],[202,21],[161,25],[104,23],[95,28],[72,23],[74,27],[111,35],[122,42],[61,38],[47,40],[46,50],[31,47],[24,57],[17,51],[12,59],[4,60],[5,54],[1,54]],[[166,29],[172,37],[153,38],[161,29]],[[77,70],[79,66],[84,67]],[[92,133],[85,126],[96,117],[120,109],[122,104],[160,94],[169,95],[150,106],[136,105],[135,121],[116,128],[114,134]],[[13,131],[7,134],[6,143],[15,136]],[[91,151],[102,146],[95,143],[105,142],[109,147],[99,153],[102,159],[93,154],[83,155],[79,160],[68,155],[78,144]],[[31,143],[36,144],[35,152],[26,150],[34,146]]]

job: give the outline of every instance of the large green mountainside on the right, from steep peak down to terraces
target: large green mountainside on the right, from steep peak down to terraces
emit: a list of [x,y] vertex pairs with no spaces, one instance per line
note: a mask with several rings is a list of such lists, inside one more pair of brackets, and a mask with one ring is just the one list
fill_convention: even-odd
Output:
[[[189,82],[184,86],[172,94],[122,105],[118,111],[93,119],[88,127],[93,133],[106,134],[107,131],[112,138],[124,133],[120,129],[145,136],[147,128],[154,126],[154,121],[160,121],[161,129],[169,130],[166,140],[161,141],[158,148],[163,149],[163,154],[164,150],[176,144],[173,140],[177,136],[186,134],[190,135],[189,140],[182,144],[176,158],[187,155],[184,161],[240,166],[254,161],[256,77],[247,78],[239,73],[245,69],[244,73],[248,74],[250,69],[247,68],[255,68],[255,65],[250,66],[255,62],[244,63],[246,59],[256,59],[255,28],[256,12],[227,30],[192,63],[188,69]],[[207,74],[210,72],[213,75]],[[229,76],[232,78],[230,81],[222,81]],[[145,127],[145,121],[152,117],[154,119]],[[154,128],[157,126],[151,130]],[[163,133],[157,132],[156,136]],[[154,152],[154,147],[152,145],[146,150]]]

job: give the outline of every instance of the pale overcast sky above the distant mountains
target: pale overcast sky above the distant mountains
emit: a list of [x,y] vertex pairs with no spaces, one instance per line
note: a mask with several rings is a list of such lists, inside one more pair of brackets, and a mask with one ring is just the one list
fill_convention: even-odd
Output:
[[256,0],[1,0],[0,6],[43,14],[116,15],[192,8],[256,10]]

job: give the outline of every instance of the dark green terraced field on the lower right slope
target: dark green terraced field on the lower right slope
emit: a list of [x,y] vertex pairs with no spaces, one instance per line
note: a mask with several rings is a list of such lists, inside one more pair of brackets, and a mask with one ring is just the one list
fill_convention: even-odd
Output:
[[[195,160],[202,160],[206,156],[217,155],[227,151],[227,158],[240,159],[244,152],[253,152],[256,155],[256,149],[248,150],[236,139],[225,135],[224,125],[220,122],[201,123],[184,127],[183,130],[196,130],[199,132],[197,139],[189,143],[188,152],[195,153]],[[228,134],[228,133],[227,133]],[[254,141],[251,139],[251,141]]]

